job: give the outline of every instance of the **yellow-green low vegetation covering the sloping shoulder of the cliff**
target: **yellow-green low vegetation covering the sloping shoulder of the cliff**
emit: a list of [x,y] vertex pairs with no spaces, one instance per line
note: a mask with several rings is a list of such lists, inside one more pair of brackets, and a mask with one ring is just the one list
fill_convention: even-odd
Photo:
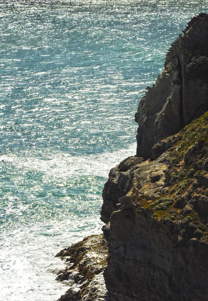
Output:
[[[203,60],[191,60],[192,66]],[[182,238],[204,240],[208,237],[208,112],[179,132],[169,154],[165,171],[168,190],[153,200],[142,196],[137,210],[151,210],[153,218],[177,229]]]

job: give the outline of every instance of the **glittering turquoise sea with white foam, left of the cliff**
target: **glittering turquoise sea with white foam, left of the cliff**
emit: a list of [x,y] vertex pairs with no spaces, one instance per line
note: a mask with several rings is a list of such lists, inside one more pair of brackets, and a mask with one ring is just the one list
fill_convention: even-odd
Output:
[[0,0],[0,300],[55,301],[54,255],[101,232],[110,168],[170,44],[207,1]]

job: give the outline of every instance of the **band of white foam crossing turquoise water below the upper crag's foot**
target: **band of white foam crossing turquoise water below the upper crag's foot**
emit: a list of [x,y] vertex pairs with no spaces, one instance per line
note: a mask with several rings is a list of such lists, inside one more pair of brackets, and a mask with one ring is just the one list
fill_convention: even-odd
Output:
[[93,175],[107,177],[109,170],[128,156],[135,155],[136,144],[128,149],[120,149],[114,153],[102,153],[88,156],[71,156],[66,153],[46,154],[43,159],[17,156],[1,156],[0,160],[12,162],[17,169],[36,170],[50,177],[66,180],[74,175]]

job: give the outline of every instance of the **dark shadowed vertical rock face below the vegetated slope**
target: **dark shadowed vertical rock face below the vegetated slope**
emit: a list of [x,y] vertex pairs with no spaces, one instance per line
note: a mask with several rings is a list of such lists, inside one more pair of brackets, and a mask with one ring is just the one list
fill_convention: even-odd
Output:
[[196,238],[178,243],[142,210],[115,211],[109,236],[104,276],[111,301],[207,300],[206,243]]

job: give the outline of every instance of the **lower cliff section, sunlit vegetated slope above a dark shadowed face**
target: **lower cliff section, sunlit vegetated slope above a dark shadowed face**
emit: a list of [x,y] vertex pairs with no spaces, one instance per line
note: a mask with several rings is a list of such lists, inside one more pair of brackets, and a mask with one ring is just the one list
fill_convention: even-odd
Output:
[[207,300],[208,112],[128,177],[133,206],[115,210],[103,228],[110,301]]

